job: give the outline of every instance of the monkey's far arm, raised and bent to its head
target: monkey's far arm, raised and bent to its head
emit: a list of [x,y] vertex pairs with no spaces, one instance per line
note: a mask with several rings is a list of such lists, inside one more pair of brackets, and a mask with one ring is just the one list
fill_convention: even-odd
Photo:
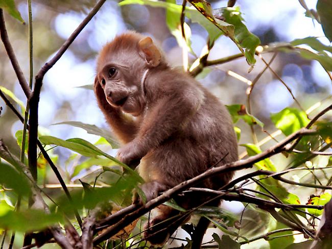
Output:
[[100,109],[118,139],[122,143],[132,141],[138,131],[136,122],[129,115],[108,104],[104,90],[99,83],[94,83],[94,92],[96,93]]

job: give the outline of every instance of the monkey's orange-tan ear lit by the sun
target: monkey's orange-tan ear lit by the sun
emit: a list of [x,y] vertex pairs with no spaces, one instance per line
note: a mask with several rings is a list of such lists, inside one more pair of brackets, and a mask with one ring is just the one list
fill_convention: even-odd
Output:
[[161,60],[161,54],[159,49],[153,44],[150,37],[141,39],[138,42],[139,54],[146,59],[150,66],[158,66]]

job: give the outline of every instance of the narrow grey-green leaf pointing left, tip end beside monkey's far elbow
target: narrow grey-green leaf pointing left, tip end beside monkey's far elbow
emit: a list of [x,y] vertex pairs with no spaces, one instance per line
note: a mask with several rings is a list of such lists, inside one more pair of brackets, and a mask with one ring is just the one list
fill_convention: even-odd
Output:
[[94,124],[82,123],[82,122],[78,122],[78,121],[66,121],[66,122],[54,123],[52,125],[56,125],[56,124],[69,124],[69,126],[82,128],[85,131],[87,131],[87,133],[89,133],[89,134],[93,134],[93,135],[97,135],[97,136],[101,136],[101,137],[105,138],[109,142],[109,144],[111,144],[112,148],[119,147],[119,144],[116,141],[116,139],[114,139],[114,137],[112,137],[110,135],[111,134],[110,131],[101,129],[101,128],[95,126]]

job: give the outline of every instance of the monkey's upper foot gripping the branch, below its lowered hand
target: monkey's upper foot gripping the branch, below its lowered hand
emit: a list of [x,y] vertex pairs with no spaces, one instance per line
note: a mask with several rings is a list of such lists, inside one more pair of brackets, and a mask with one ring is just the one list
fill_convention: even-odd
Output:
[[[140,189],[144,192],[146,201],[149,202],[154,198],[158,197],[160,193],[169,189],[169,187],[160,182],[152,181],[142,184],[140,186]],[[133,195],[133,204],[144,204],[137,192],[135,192]]]

